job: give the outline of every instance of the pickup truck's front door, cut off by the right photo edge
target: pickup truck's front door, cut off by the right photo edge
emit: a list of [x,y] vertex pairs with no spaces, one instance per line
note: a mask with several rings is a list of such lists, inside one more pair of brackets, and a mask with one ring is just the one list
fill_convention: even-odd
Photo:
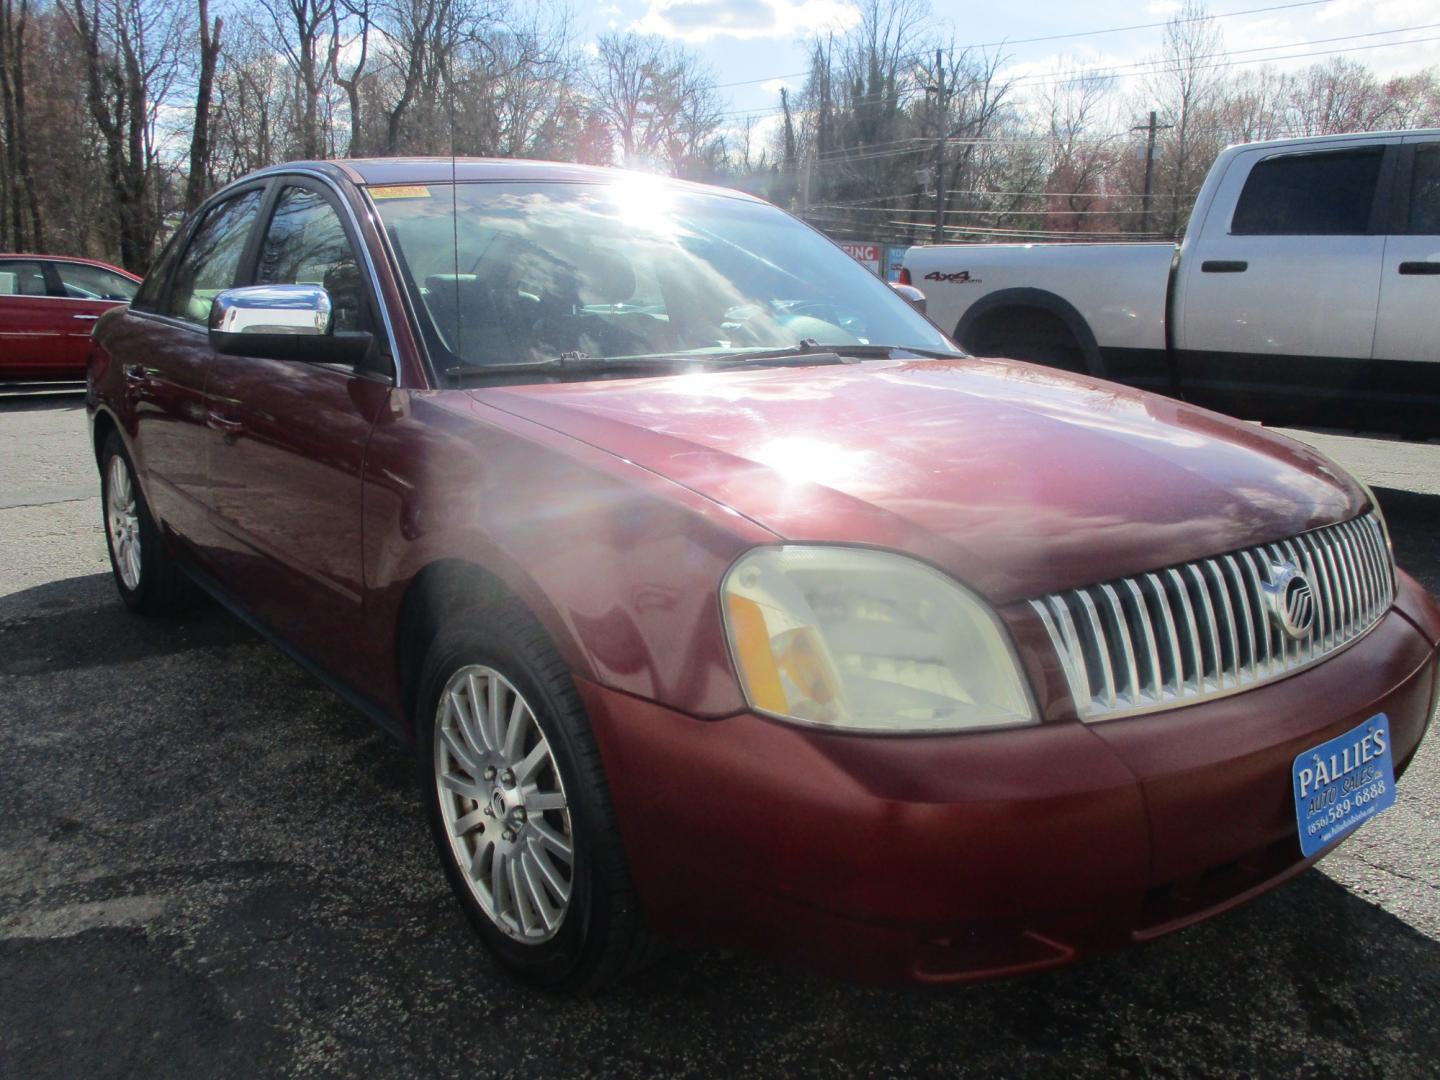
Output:
[[[1380,268],[1380,318],[1375,360],[1440,361],[1440,140],[1405,138],[1395,170],[1395,209]],[[1384,366],[1384,364],[1378,364]],[[1428,377],[1426,377],[1428,376]],[[1395,372],[1397,380],[1420,379],[1430,393],[1440,369]],[[1398,387],[1397,387],[1398,389]]]

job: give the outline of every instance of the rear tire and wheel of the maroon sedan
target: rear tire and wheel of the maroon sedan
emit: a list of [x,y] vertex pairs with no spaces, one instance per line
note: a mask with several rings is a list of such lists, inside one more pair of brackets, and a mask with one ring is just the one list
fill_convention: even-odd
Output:
[[144,615],[190,606],[194,585],[166,547],[120,432],[101,446],[99,491],[109,569],[125,606]]

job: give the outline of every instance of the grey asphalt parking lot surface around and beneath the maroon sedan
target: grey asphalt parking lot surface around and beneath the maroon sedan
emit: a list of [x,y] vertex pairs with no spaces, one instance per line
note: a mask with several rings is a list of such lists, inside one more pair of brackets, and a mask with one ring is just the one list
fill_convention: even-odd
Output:
[[[1300,433],[1440,592],[1440,444]],[[217,608],[115,598],[78,400],[0,405],[0,1074],[1436,1076],[1440,737],[1319,868],[1022,981],[857,988],[683,953],[508,979],[410,759]]]

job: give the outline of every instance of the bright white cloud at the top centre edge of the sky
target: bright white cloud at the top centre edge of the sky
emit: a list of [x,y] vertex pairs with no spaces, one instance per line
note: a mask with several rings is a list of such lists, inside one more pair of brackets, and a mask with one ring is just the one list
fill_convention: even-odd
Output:
[[848,0],[651,0],[631,29],[700,43],[848,30],[858,22],[860,12]]

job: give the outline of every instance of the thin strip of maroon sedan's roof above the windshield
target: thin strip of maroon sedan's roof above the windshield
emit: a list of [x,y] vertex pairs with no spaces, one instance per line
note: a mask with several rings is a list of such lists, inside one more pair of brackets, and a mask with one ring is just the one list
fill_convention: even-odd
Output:
[[611,166],[577,166],[569,161],[534,161],[521,157],[359,157],[334,161],[288,161],[251,173],[243,179],[253,180],[274,173],[294,173],[297,170],[324,173],[334,179],[344,177],[350,183],[363,187],[441,184],[449,183],[452,179],[458,181],[539,180],[613,184],[626,177],[645,177],[647,180],[688,187],[697,192],[713,192],[716,194],[763,202],[732,187],[671,180],[670,177],[652,173],[613,168]]

